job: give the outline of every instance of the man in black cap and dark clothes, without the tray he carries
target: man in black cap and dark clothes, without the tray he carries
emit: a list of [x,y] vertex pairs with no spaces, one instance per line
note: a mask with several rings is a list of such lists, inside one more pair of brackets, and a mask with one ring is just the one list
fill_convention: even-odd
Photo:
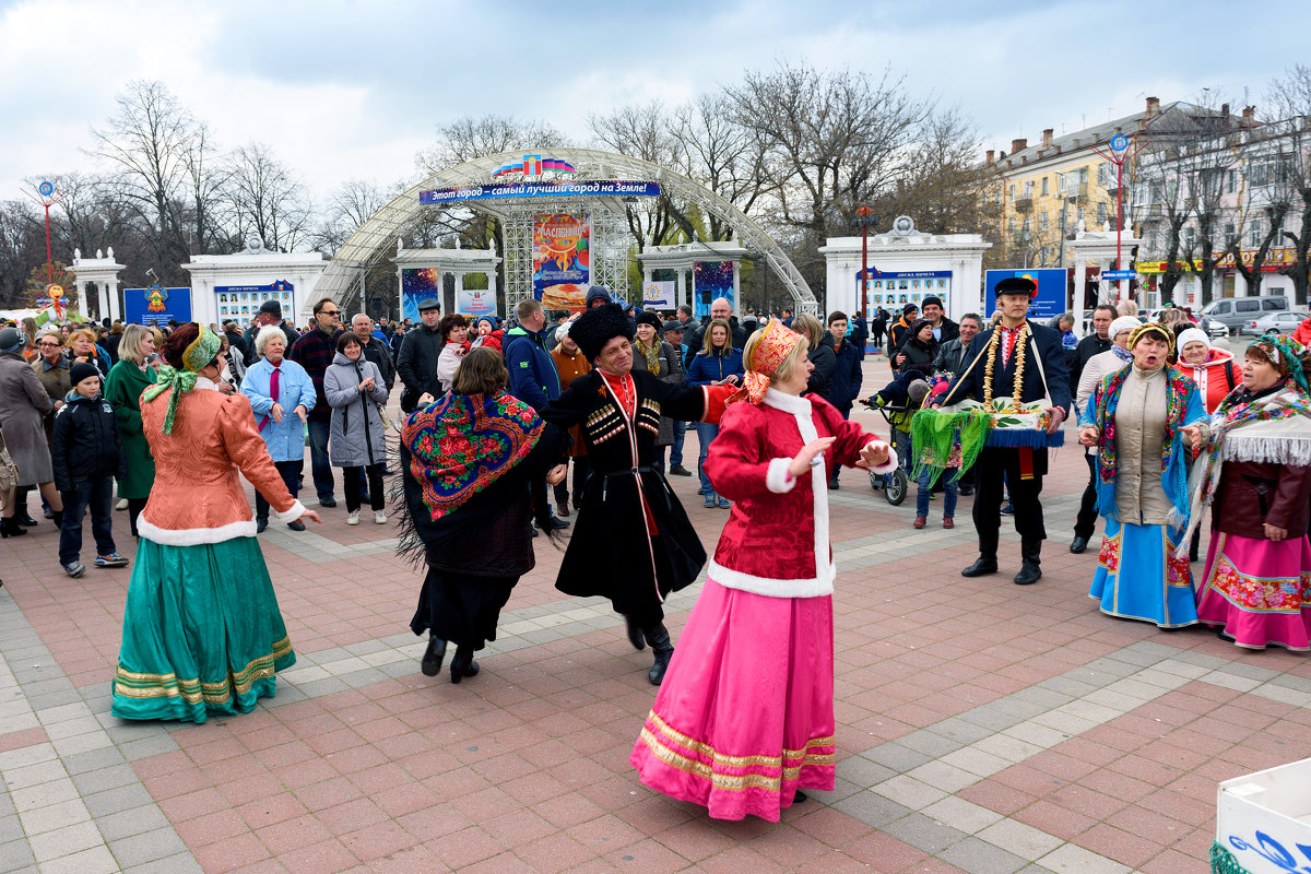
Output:
[[[1016,343],[1023,338],[1027,350],[1020,400],[1032,404],[1050,397],[1051,406],[1046,409],[1051,413],[1051,425],[1047,434],[1054,434],[1061,428],[1070,409],[1070,380],[1059,332],[1025,318],[1029,301],[1037,291],[1037,284],[1024,276],[1008,276],[996,283],[996,305],[1002,312],[1002,321],[996,328],[979,334],[970,342],[969,351],[965,354],[966,372],[956,377],[944,400],[966,397],[973,397],[977,401],[983,400],[990,351],[995,356],[992,397],[1009,397],[1015,390]],[[1023,330],[1025,326],[1028,330]],[[992,335],[998,332],[1002,335],[994,350],[991,347]],[[970,367],[970,363],[974,366]],[[1015,529],[1020,533],[1023,558],[1015,582],[1020,586],[1038,582],[1038,578],[1042,577],[1042,541],[1047,536],[1042,524],[1042,503],[1038,501],[1038,495],[1042,491],[1042,477],[1047,472],[1047,451],[1028,447],[985,447],[974,463],[974,470],[978,476],[974,497],[974,528],[979,537],[979,557],[962,570],[961,575],[982,577],[996,573],[1002,498],[1004,486],[1009,486],[1011,501],[1015,504]]]

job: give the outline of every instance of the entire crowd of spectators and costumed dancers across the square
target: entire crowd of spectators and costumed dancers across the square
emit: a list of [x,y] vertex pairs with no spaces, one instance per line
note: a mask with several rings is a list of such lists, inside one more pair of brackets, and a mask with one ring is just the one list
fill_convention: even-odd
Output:
[[[324,299],[303,330],[273,301],[244,333],[16,325],[0,330],[0,425],[17,469],[0,533],[39,524],[35,486],[64,573],[85,573],[88,514],[93,563],[127,566],[117,482],[136,544],[113,712],[203,722],[250,710],[295,662],[256,537],[270,516],[292,531],[320,522],[298,497],[307,449],[319,507],[336,507],[341,470],[350,525],[366,504],[388,522],[385,477],[400,474],[400,552],[425,570],[410,628],[427,638],[427,676],[451,642],[451,681],[479,674],[534,539],[558,546],[572,525],[556,587],[607,599],[632,646],[652,650],[646,679],[661,689],[632,753],[641,780],[712,816],[777,820],[834,781],[827,493],[843,465],[914,472],[915,528],[935,490],[945,528],[973,494],[968,578],[999,573],[1012,515],[1013,582],[1028,586],[1042,578],[1049,451],[1072,417],[1088,486],[1070,550],[1105,520],[1089,588],[1103,612],[1311,650],[1307,350],[1262,337],[1239,362],[1181,311],[1146,322],[1109,305],[1078,339],[1068,321],[1029,317],[1034,292],[1003,280],[988,320],[953,321],[926,297],[895,322],[880,313],[873,333],[838,311],[738,317],[725,299],[701,320],[687,307],[665,320],[600,286],[579,313],[524,300],[506,324],[423,300],[413,326],[359,313],[343,328]],[[902,457],[851,422],[871,339],[886,339],[916,410],[914,440],[890,435]],[[713,556],[667,480],[692,476],[704,510],[729,511]],[[665,600],[707,565],[675,650]]]

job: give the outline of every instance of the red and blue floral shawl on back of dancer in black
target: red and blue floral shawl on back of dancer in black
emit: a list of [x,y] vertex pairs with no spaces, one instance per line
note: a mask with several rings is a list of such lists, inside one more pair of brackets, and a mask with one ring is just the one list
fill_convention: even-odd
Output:
[[505,392],[447,393],[401,428],[410,476],[434,520],[459,510],[528,456],[545,422]]

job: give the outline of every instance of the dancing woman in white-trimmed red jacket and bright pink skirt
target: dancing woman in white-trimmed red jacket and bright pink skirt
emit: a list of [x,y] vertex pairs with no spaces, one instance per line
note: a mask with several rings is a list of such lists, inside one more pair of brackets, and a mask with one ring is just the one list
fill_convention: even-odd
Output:
[[813,370],[800,334],[771,321],[743,358],[749,402],[729,406],[705,460],[733,512],[629,761],[716,819],[779,822],[802,789],[834,786],[829,474],[897,456],[800,397]]

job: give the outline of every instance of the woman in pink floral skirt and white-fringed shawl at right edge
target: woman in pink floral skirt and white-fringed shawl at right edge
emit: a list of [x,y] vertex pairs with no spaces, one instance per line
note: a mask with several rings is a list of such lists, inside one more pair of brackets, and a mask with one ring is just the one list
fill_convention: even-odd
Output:
[[1311,650],[1306,354],[1282,335],[1253,342],[1243,384],[1213,414],[1210,444],[1198,459],[1205,468],[1192,518],[1202,502],[1213,506],[1197,616],[1247,649]]

